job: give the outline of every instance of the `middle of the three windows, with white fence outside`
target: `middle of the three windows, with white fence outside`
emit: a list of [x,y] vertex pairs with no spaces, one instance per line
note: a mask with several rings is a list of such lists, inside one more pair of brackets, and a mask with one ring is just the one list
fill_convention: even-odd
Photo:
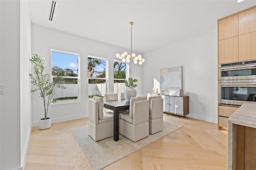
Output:
[[107,59],[88,56],[88,98],[104,97],[107,81]]

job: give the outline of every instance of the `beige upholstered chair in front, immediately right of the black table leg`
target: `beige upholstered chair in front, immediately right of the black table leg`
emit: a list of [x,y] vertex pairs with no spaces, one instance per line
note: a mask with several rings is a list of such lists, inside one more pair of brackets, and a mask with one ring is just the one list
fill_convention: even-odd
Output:
[[149,135],[149,100],[146,96],[132,97],[129,111],[119,115],[120,134],[134,142]]

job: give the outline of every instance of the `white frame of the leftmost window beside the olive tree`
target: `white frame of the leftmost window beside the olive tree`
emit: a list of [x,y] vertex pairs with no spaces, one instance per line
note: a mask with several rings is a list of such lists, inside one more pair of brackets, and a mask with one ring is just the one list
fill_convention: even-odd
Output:
[[55,75],[52,75],[52,52],[58,52],[58,53],[66,53],[70,55],[77,55],[78,56],[78,77],[69,77],[69,76],[62,76],[64,78],[68,79],[77,79],[77,100],[68,100],[68,101],[56,101],[54,103],[51,102],[51,105],[59,105],[59,104],[68,104],[68,103],[80,103],[80,54],[79,53],[72,53],[68,51],[61,51],[57,49],[51,49],[51,68],[50,68],[50,75],[51,75],[51,81],[53,81],[53,78],[56,77]]

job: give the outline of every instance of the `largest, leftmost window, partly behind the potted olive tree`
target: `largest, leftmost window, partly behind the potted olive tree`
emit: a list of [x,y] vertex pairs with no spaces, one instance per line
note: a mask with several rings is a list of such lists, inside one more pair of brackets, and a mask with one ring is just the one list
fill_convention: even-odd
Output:
[[56,103],[73,103],[80,101],[80,54],[51,50],[52,79],[57,73],[63,76],[66,89],[54,89],[53,100]]

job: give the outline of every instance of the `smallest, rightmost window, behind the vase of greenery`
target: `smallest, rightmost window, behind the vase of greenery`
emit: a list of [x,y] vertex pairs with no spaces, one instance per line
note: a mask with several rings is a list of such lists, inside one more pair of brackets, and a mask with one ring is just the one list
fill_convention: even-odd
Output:
[[114,93],[124,93],[126,89],[124,80],[128,78],[128,64],[114,61]]

